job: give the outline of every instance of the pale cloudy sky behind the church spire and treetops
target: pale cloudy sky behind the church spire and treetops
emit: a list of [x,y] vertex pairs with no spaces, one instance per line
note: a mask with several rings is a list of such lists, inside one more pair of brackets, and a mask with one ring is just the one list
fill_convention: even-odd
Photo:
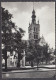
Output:
[[[13,15],[12,21],[25,30],[23,39],[28,40],[33,2],[2,2],[1,6]],[[55,49],[55,2],[34,2],[34,10],[36,22],[39,19],[40,37],[43,35],[49,46]]]

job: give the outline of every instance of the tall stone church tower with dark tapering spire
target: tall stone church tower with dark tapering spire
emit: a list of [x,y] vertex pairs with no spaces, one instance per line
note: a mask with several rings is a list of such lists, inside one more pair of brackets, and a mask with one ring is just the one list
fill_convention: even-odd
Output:
[[32,21],[31,23],[29,23],[29,27],[28,27],[29,41],[37,42],[40,38],[40,24],[39,24],[39,20],[36,23],[36,15],[35,15],[34,8],[32,11],[31,18],[32,18]]

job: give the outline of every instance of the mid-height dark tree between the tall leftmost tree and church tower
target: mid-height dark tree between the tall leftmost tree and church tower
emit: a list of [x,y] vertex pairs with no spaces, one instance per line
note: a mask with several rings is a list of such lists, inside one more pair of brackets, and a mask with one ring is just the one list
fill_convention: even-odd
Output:
[[17,67],[20,67],[20,60],[22,59],[22,52],[24,49],[24,44],[22,42],[22,37],[24,36],[24,30],[19,28],[16,29],[16,32],[13,34],[13,43],[14,43],[14,51],[18,53],[18,63]]

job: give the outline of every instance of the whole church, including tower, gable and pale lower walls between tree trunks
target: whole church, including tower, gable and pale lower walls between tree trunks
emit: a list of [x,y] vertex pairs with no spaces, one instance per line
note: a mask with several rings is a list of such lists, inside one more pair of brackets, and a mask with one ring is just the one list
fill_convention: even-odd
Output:
[[[29,34],[29,40],[22,40],[22,42],[26,45],[27,47],[29,46],[30,43],[32,44],[37,44],[40,46],[44,46],[46,45],[46,41],[44,39],[44,37],[40,37],[40,23],[39,20],[36,23],[36,15],[35,15],[35,10],[33,9],[32,11],[32,21],[31,23],[29,23],[29,27],[28,27],[28,34]],[[23,58],[20,61],[20,65],[25,67],[25,63],[26,63],[26,49],[23,50]],[[9,54],[9,53],[8,53]],[[7,66],[13,66],[16,67],[17,66],[17,56],[15,56],[15,54],[17,55],[17,53],[15,53],[15,51],[13,52],[13,55],[11,56],[10,54],[8,55],[9,58],[7,59]]]

